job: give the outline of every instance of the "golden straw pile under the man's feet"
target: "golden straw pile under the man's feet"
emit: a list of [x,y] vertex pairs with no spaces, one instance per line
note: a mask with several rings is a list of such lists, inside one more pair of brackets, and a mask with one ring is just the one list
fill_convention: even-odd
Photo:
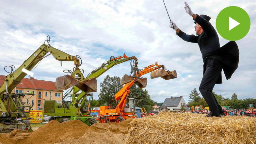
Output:
[[131,121],[127,144],[254,144],[256,117],[162,112]]

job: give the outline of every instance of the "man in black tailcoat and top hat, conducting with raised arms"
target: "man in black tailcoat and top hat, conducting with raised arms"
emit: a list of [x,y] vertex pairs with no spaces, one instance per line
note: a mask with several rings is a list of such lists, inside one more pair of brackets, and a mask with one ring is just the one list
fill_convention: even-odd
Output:
[[226,116],[225,113],[222,112],[222,108],[218,104],[212,90],[215,84],[222,83],[222,69],[227,79],[231,78],[232,73],[237,69],[239,60],[238,47],[234,41],[230,41],[223,47],[220,47],[217,32],[212,24],[209,23],[211,18],[207,15],[194,14],[186,2],[184,8],[195,21],[197,36],[187,35],[173,22],[170,22],[170,27],[176,30],[176,34],[180,38],[188,42],[198,43],[200,47],[204,65],[203,78],[199,90],[211,111],[207,117]]

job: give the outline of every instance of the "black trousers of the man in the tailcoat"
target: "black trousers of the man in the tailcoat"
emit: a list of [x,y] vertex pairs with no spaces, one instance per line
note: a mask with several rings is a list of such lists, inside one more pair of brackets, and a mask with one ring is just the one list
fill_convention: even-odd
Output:
[[222,63],[216,59],[207,58],[205,64],[206,70],[203,74],[199,90],[213,115],[219,115],[222,108],[218,104],[212,91],[221,74]]

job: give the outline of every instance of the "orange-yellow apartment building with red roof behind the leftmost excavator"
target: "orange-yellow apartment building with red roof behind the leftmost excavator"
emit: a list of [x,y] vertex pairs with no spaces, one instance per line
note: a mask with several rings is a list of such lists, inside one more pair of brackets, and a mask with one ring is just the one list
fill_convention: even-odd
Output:
[[[4,83],[5,77],[0,75],[0,86]],[[63,96],[63,91],[55,91],[55,82],[37,80],[33,77],[23,78],[16,86],[16,92],[26,93],[21,101],[24,105],[33,105],[31,110],[42,110],[43,100],[51,99],[61,103]],[[15,93],[15,89],[11,93]]]

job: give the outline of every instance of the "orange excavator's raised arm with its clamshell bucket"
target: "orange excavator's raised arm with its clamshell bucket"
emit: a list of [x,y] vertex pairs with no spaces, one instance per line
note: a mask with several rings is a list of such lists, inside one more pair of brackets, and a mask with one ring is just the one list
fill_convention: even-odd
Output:
[[[136,66],[136,65],[135,65]],[[162,69],[161,69],[162,68]],[[155,71],[157,70],[157,71]],[[137,71],[132,77],[128,76],[125,74],[122,77],[121,84],[125,84],[123,88],[120,89],[115,94],[115,100],[118,101],[119,103],[117,104],[117,107],[120,108],[120,111],[123,111],[125,103],[126,103],[126,98],[131,92],[129,89],[131,86],[135,83],[138,85],[140,88],[145,88],[147,85],[147,78],[140,78],[142,75],[149,73],[149,72],[154,72],[151,73],[151,79],[157,78],[157,77],[162,77],[166,80],[172,79],[172,78],[177,78],[177,73],[176,71],[168,71],[164,67],[164,65],[158,65],[157,62],[153,65],[150,65],[146,67],[145,69],[141,71]],[[130,82],[129,82],[130,81]]]

